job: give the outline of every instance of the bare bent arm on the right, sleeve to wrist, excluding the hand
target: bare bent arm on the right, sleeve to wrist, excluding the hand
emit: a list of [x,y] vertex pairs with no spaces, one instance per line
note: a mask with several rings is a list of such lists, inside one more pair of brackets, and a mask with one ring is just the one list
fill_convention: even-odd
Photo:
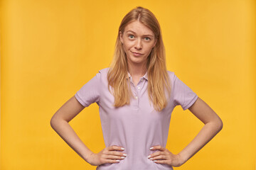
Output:
[[195,103],[188,108],[193,115],[205,125],[196,137],[179,153],[183,163],[193,157],[203,146],[205,146],[223,128],[223,122],[207,103],[198,97]]

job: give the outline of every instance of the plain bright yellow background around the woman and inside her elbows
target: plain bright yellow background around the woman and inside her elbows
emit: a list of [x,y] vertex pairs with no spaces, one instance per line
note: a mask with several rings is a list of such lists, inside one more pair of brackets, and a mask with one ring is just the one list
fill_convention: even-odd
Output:
[[[159,19],[167,67],[223,120],[223,130],[174,169],[255,169],[255,1],[2,0],[1,166],[95,169],[50,118],[108,67],[119,23],[135,6]],[[70,125],[93,152],[105,147],[96,103]],[[203,127],[174,109],[167,148],[178,154]]]

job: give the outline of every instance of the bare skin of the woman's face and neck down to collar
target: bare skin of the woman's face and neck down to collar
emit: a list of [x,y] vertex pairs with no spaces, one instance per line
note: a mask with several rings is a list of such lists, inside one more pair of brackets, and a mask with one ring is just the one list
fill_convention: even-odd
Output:
[[[146,74],[146,61],[156,45],[156,38],[151,29],[139,21],[133,21],[124,28],[124,33],[119,33],[120,41],[127,55],[129,73],[132,76],[134,85],[139,82],[140,77]],[[134,56],[132,52],[139,52],[141,56]]]

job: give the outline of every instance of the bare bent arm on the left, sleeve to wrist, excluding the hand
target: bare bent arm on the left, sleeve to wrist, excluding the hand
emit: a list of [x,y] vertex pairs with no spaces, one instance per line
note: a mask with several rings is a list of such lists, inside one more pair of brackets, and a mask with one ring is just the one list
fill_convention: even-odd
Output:
[[70,98],[50,119],[50,125],[60,137],[87,162],[87,157],[93,152],[80,140],[73,128],[68,124],[85,108],[75,96]]

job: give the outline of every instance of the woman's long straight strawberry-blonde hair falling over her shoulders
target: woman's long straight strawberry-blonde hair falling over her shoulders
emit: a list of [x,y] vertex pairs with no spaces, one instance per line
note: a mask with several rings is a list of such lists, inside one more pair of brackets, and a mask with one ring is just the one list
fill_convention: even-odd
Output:
[[[146,70],[148,76],[148,96],[150,103],[153,103],[156,111],[161,111],[167,105],[167,100],[171,94],[169,75],[166,70],[166,55],[164,42],[162,40],[159,22],[151,11],[147,8],[137,6],[129,11],[122,19],[119,26],[117,40],[114,48],[114,57],[107,72],[108,89],[112,87],[115,107],[129,105],[130,98],[133,96],[130,83],[127,83],[128,64],[127,56],[124,52],[122,42],[119,39],[120,33],[124,33],[124,28],[133,21],[139,21],[150,28],[156,38],[156,45],[152,48],[147,57]],[[166,96],[165,91],[168,92]]]

